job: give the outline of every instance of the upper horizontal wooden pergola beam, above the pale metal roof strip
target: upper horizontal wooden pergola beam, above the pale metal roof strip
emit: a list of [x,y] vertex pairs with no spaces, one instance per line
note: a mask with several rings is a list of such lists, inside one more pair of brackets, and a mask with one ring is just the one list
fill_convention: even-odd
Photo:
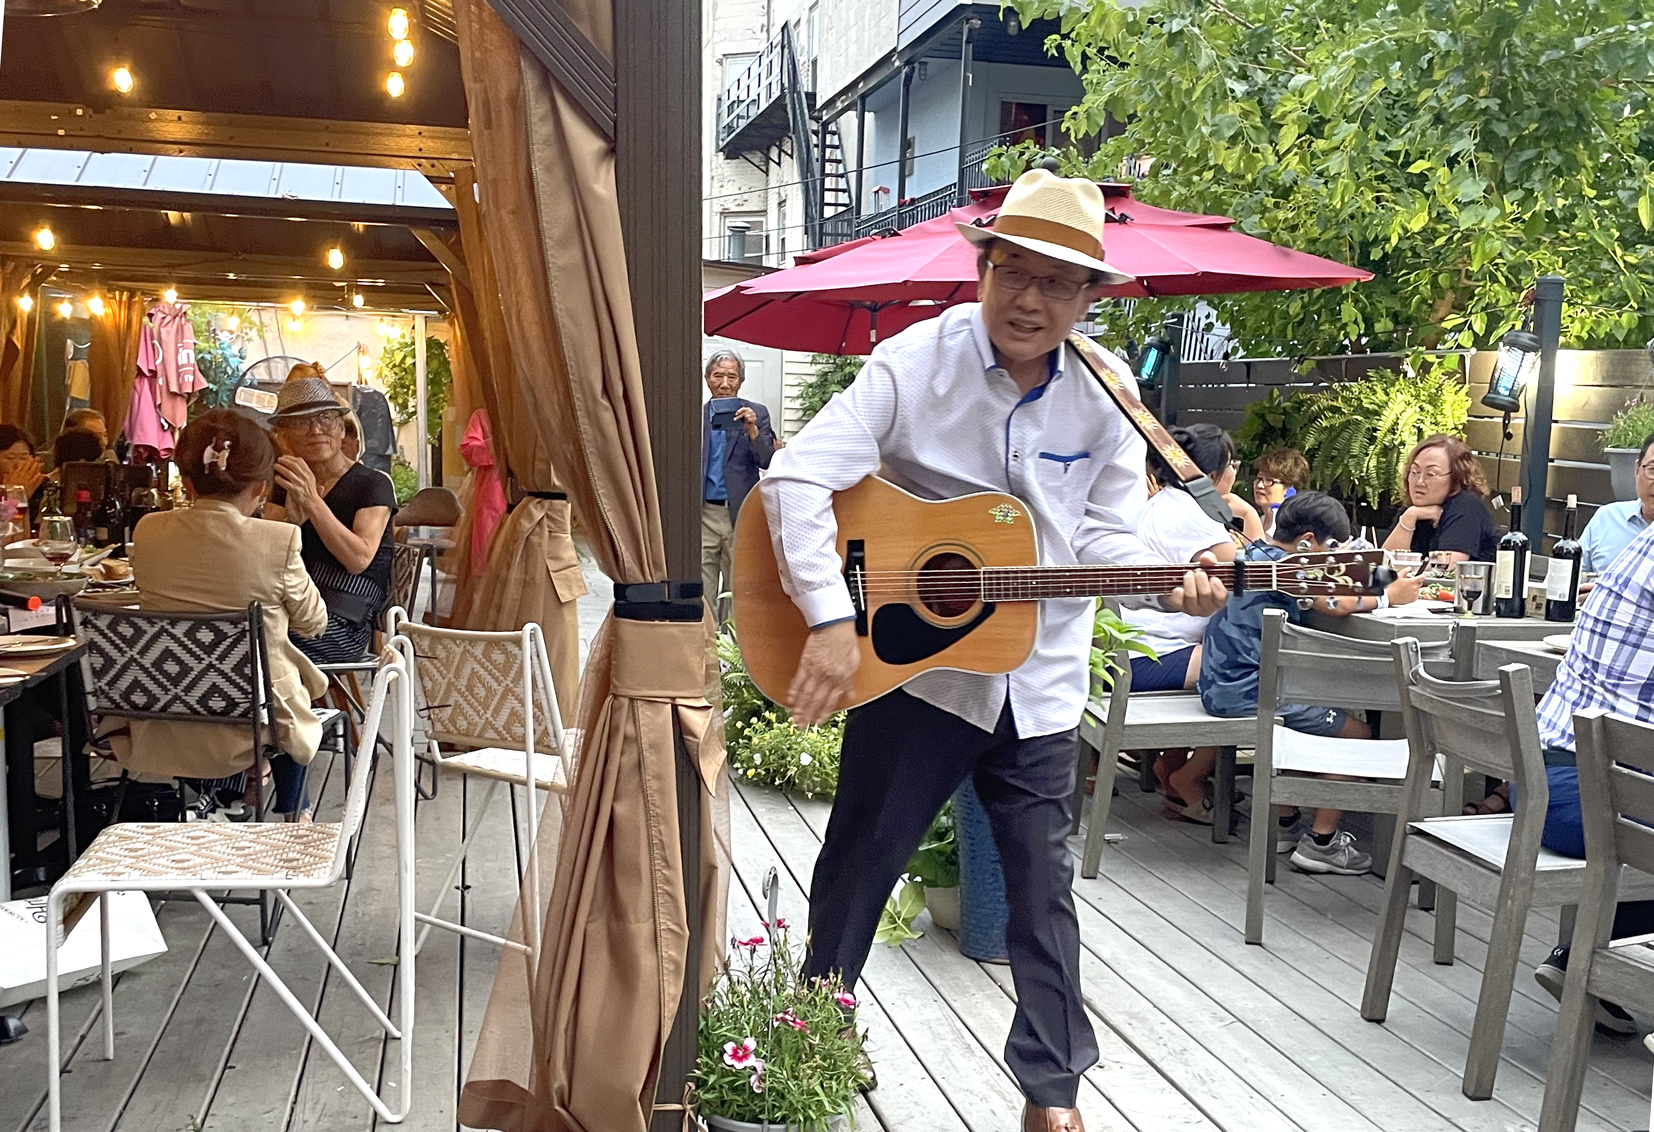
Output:
[[71,103],[0,101],[0,146],[91,149],[167,157],[238,157],[415,169],[452,179],[471,162],[471,141],[455,126],[356,122],[270,114]]

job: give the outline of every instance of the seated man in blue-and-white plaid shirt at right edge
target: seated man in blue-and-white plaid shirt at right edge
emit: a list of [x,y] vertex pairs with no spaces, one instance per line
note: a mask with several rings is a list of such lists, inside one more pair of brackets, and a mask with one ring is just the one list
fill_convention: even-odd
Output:
[[[1540,741],[1545,745],[1545,778],[1550,783],[1543,842],[1551,852],[1568,857],[1585,856],[1573,715],[1593,707],[1654,722],[1654,526],[1619,551],[1596,579],[1596,588],[1580,607],[1568,655],[1540,702]],[[1651,932],[1654,900],[1619,905],[1614,914],[1616,940]],[[1533,978],[1556,1001],[1561,1001],[1566,967],[1568,948],[1558,947],[1533,971]],[[1616,1003],[1596,1005],[1596,1024],[1618,1034],[1636,1033],[1631,1014]]]

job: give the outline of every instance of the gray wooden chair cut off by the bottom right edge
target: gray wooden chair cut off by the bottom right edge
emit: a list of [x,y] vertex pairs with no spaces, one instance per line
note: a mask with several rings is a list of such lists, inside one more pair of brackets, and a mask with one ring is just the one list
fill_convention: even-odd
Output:
[[[1591,1056],[1591,998],[1654,1011],[1654,948],[1613,940],[1614,905],[1626,889],[1654,882],[1654,727],[1601,708],[1573,717],[1585,814],[1585,877],[1561,1013],[1551,1038],[1540,1132],[1573,1132]],[[1654,1122],[1654,1112],[1649,1114]]]

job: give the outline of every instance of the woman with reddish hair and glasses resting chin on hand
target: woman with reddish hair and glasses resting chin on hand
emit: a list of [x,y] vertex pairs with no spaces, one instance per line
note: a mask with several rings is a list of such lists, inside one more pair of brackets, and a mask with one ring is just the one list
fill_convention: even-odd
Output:
[[1444,551],[1454,563],[1494,561],[1494,511],[1487,478],[1459,437],[1437,434],[1408,455],[1408,510],[1384,536],[1384,549]]

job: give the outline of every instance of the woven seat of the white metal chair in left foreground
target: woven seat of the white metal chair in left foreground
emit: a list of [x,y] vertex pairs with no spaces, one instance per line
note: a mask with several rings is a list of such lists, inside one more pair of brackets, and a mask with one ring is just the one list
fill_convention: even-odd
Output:
[[326,880],[339,834],[332,823],[121,823],[106,826],[60,884],[73,889],[76,882],[182,877],[189,887],[240,887]]

